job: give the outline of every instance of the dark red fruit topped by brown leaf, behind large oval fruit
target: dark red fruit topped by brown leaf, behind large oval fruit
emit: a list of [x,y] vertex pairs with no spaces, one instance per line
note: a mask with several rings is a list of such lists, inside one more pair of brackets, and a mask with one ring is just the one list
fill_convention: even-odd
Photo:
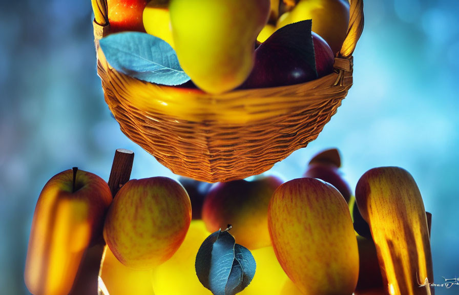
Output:
[[349,202],[352,191],[341,176],[340,165],[339,151],[337,149],[325,150],[312,158],[303,177],[318,178],[330,183],[338,189],[346,202]]

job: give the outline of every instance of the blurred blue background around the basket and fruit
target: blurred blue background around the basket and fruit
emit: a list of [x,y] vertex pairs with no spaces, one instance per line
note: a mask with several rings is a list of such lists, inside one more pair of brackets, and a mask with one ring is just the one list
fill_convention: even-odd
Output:
[[[90,1],[0,3],[0,293],[29,294],[23,271],[38,195],[78,166],[108,179],[115,149],[133,178],[169,176],[111,118],[96,75]],[[406,168],[433,214],[437,283],[459,275],[459,2],[367,0],[354,86],[319,138],[273,168],[300,177],[338,147],[351,187],[376,166]],[[459,286],[436,288],[457,294]]]

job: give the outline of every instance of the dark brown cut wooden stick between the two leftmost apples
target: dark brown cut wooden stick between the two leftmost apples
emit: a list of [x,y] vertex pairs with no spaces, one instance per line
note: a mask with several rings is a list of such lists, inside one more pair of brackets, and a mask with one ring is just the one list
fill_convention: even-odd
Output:
[[[115,197],[119,188],[129,181],[133,162],[134,153],[132,151],[116,150],[108,181],[113,197]],[[103,264],[105,249],[105,241],[100,237],[100,241],[96,245],[86,250],[69,295],[98,294],[99,270]]]

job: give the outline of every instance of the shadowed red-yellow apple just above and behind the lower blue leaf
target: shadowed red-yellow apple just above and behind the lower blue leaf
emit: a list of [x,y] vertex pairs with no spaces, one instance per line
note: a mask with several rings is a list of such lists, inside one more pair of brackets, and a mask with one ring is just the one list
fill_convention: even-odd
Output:
[[231,224],[238,244],[248,249],[269,246],[268,204],[280,184],[282,180],[275,176],[216,184],[202,207],[207,230],[212,233]]

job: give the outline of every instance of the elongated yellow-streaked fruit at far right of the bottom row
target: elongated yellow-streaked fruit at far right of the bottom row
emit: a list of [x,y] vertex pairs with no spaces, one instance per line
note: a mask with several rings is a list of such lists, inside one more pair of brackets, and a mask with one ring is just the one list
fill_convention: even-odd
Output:
[[373,168],[357,183],[356,202],[371,230],[385,291],[430,294],[428,285],[419,287],[426,279],[433,283],[433,269],[424,203],[413,177],[400,167]]

